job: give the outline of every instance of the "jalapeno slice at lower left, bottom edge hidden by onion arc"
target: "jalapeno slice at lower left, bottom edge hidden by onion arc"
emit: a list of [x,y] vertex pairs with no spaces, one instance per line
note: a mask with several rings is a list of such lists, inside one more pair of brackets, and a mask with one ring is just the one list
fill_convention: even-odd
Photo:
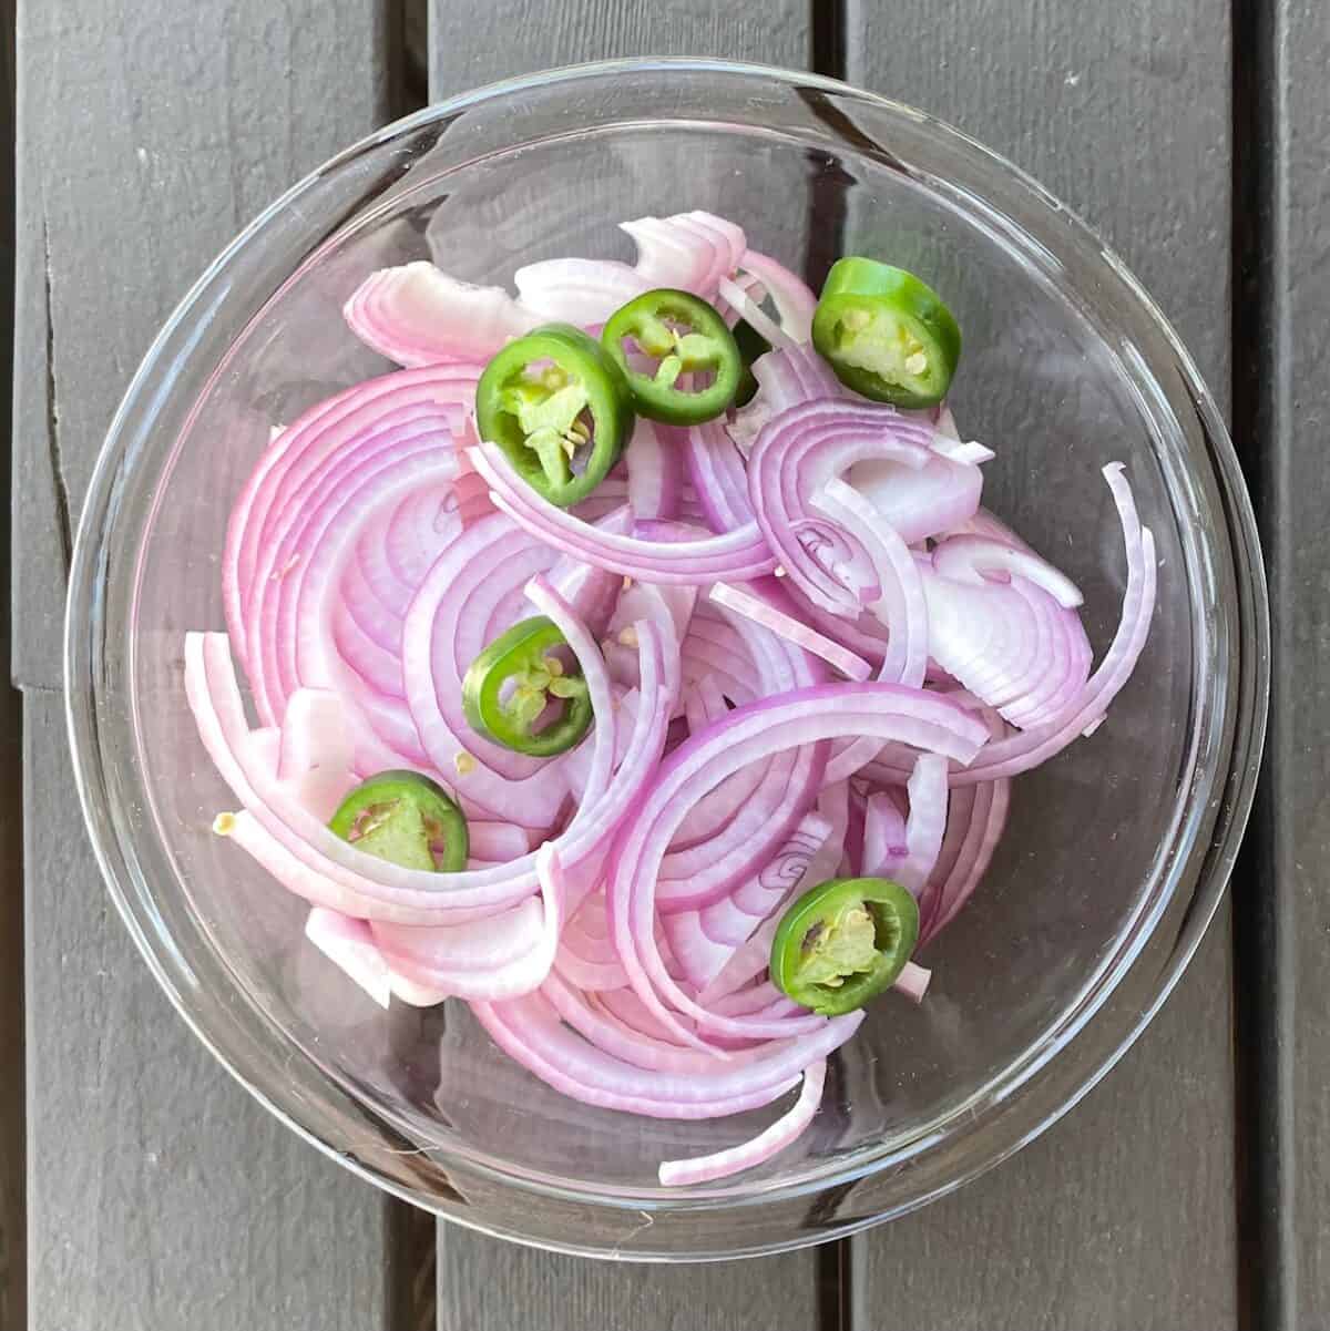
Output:
[[328,824],[343,841],[403,869],[466,868],[466,815],[419,772],[379,772],[346,796]]

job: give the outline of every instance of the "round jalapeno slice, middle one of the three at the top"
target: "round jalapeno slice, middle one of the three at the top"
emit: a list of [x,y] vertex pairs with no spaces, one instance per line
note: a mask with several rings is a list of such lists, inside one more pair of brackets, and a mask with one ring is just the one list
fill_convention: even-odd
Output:
[[[720,415],[739,390],[743,358],[734,334],[691,291],[662,286],[635,297],[610,315],[600,342],[638,414],[652,421],[700,425]],[[643,361],[655,361],[655,369],[642,367]]]

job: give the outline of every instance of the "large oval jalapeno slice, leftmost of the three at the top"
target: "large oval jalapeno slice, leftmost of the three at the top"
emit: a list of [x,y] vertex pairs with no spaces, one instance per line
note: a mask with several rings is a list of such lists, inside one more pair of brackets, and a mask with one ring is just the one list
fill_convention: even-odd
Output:
[[632,434],[628,389],[595,338],[547,323],[495,354],[475,386],[481,438],[567,508],[591,494]]

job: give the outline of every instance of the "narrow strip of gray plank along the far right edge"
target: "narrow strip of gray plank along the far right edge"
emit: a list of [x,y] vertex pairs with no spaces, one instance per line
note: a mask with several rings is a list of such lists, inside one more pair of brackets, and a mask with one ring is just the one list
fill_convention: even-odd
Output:
[[[1275,13],[1274,11],[1278,11]],[[1330,901],[1325,865],[1330,853],[1330,534],[1325,512],[1327,479],[1325,441],[1330,430],[1330,11],[1322,0],[1293,0],[1271,7],[1275,67],[1286,81],[1271,91],[1277,101],[1278,160],[1282,180],[1275,216],[1273,290],[1277,323],[1271,333],[1279,361],[1270,382],[1277,395],[1267,450],[1267,503],[1263,535],[1269,540],[1271,602],[1278,671],[1271,713],[1271,761],[1266,797],[1279,839],[1275,865],[1282,881],[1262,884],[1287,901],[1287,952],[1293,965],[1277,977],[1294,1014],[1291,1049],[1293,1151],[1283,1161],[1291,1189],[1293,1239],[1283,1254],[1293,1274],[1293,1298],[1278,1331],[1330,1326],[1330,980],[1326,940]],[[1291,900],[1290,900],[1291,898]],[[1295,1008],[1294,1008],[1295,1004]],[[1270,1032],[1286,1040],[1287,1030]],[[1271,1279],[1278,1278],[1271,1272]],[[1273,1328],[1273,1323],[1271,1323]]]

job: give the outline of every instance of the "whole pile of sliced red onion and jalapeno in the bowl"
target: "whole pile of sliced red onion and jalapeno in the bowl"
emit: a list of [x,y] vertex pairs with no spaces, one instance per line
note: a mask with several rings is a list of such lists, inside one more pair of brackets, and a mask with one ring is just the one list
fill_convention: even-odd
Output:
[[[847,258],[820,298],[734,222],[624,222],[636,264],[427,262],[350,329],[402,366],[276,426],[185,684],[214,831],[387,1006],[470,1004],[575,1099],[792,1142],[863,1006],[979,886],[1010,780],[1104,720],[1153,539],[1121,466],[1117,632],[981,507],[960,331]],[[257,712],[246,713],[237,666]]]

